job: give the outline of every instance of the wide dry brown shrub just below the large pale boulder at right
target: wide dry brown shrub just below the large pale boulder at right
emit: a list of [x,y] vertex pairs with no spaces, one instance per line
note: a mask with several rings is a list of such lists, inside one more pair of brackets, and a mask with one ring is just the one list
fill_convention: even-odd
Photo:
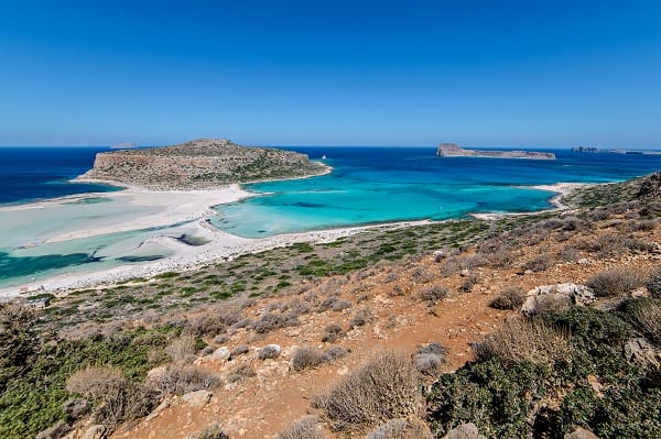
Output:
[[480,360],[499,356],[514,362],[554,364],[571,358],[570,344],[563,336],[541,322],[523,318],[507,320],[473,349]]

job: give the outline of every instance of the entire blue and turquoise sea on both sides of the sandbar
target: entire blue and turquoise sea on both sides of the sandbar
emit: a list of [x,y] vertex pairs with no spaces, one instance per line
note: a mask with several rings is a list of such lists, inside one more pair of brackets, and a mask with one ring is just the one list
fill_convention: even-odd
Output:
[[[661,168],[661,155],[544,150],[555,161],[436,157],[435,147],[283,147],[307,154],[333,172],[311,178],[245,185],[258,196],[215,207],[212,224],[243,238],[409,220],[464,218],[472,212],[525,212],[551,207],[537,185],[606,183]],[[144,241],[158,230],[137,230],[36,245],[50,229],[77,221],[111,220],[102,193],[116,187],[71,183],[93,166],[102,147],[0,147],[0,287],[77,271],[96,271],[141,257],[117,256],[117,246]],[[8,207],[75,194],[101,193],[48,215]],[[106,210],[104,210],[106,209]],[[123,217],[130,211],[123,211]],[[113,257],[108,249],[115,246]],[[121,246],[120,246],[121,249]],[[144,260],[165,257],[150,254]]]

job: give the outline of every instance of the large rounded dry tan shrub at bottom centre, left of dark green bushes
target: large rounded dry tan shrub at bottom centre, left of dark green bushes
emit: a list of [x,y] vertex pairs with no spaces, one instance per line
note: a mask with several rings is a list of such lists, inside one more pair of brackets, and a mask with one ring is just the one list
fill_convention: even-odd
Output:
[[410,359],[384,352],[314,398],[335,431],[365,430],[415,413],[421,392]]

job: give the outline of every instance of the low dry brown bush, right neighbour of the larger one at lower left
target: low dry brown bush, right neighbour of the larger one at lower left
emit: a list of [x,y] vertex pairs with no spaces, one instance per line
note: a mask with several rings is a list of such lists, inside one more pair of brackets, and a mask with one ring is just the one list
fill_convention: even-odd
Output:
[[171,364],[161,373],[150,376],[148,384],[164,394],[183,395],[217,387],[220,385],[220,377],[196,366]]

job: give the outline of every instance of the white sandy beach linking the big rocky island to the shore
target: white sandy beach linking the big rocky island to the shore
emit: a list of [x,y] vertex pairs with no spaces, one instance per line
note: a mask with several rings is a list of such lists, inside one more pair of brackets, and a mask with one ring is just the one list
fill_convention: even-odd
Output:
[[[80,201],[91,197],[109,198],[121,201],[123,205],[144,207],[145,213],[133,217],[130,220],[119,217],[117,223],[105,223],[100,226],[87,224],[80,229],[64,233],[55,232],[35,245],[64,243],[71,240],[105,235],[122,231],[165,227],[186,222],[185,226],[167,229],[166,233],[156,234],[139,243],[140,248],[158,246],[166,249],[171,254],[164,259],[124,264],[106,270],[97,271],[71,271],[65,274],[47,278],[35,279],[20,286],[0,289],[0,297],[12,297],[21,292],[61,292],[67,289],[93,287],[100,284],[111,284],[134,277],[149,277],[158,273],[172,270],[186,270],[195,266],[219,262],[236,257],[237,255],[260,252],[277,246],[284,246],[295,242],[329,242],[342,237],[358,233],[367,229],[391,229],[409,227],[412,224],[427,223],[429,221],[409,221],[393,224],[379,224],[366,227],[351,227],[326,231],[311,231],[302,233],[280,234],[275,237],[247,239],[224,232],[210,226],[207,219],[215,215],[212,207],[234,202],[252,194],[243,190],[239,185],[230,185],[213,190],[169,190],[153,191],[139,187],[129,187],[126,190],[104,194],[85,194],[80,196],[65,197],[54,200],[40,201],[30,205],[4,207],[0,211],[31,211],[33,209],[47,209],[62,207],[63,204]],[[43,215],[44,211],[37,215]],[[36,213],[36,212],[35,212]],[[187,233],[203,238],[208,242],[204,245],[188,245],[174,238],[173,234]]]

